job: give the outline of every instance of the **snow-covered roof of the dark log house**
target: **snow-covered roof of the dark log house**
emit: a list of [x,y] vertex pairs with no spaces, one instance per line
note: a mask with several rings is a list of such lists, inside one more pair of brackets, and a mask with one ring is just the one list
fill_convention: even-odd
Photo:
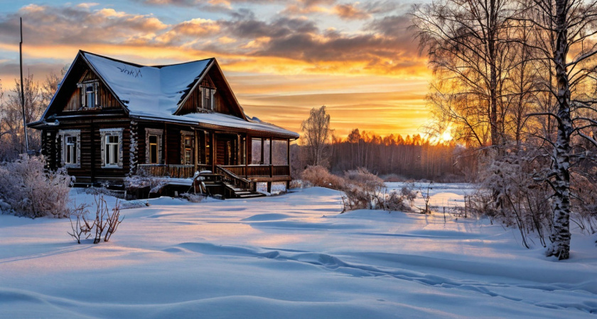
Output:
[[[298,138],[298,134],[262,121],[222,113],[188,113],[173,115],[183,99],[190,93],[213,59],[199,60],[178,65],[147,67],[113,60],[90,52],[81,52],[92,69],[114,92],[117,99],[135,118],[163,119],[177,123],[219,125],[240,130],[258,130],[266,133]],[[247,116],[246,116],[247,117]],[[247,117],[249,118],[249,117]]]

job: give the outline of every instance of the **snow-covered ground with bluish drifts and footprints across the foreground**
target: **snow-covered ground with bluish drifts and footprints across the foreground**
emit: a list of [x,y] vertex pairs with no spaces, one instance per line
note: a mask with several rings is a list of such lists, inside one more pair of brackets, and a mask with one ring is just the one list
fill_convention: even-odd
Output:
[[519,245],[515,230],[485,220],[339,214],[339,193],[317,187],[249,200],[149,203],[122,211],[117,233],[98,245],[73,242],[68,220],[0,216],[0,317],[597,313],[595,238],[578,233],[571,259],[556,262],[539,245]]

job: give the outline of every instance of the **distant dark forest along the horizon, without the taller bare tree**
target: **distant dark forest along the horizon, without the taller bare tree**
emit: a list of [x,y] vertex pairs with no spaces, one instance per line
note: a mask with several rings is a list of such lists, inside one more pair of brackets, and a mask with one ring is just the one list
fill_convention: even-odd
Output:
[[[298,174],[307,166],[306,147],[293,145],[291,167]],[[334,174],[365,167],[386,181],[428,179],[433,181],[464,181],[469,176],[463,167],[468,163],[466,149],[455,142],[432,143],[416,134],[380,136],[354,129],[345,138],[333,136],[326,145],[326,161]]]

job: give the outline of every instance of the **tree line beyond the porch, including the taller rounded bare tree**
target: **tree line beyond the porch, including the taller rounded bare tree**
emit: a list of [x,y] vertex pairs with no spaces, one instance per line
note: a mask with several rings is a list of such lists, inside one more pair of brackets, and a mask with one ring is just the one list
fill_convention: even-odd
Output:
[[295,146],[296,177],[307,166],[322,166],[334,174],[365,168],[386,180],[429,179],[462,181],[468,162],[466,149],[456,142],[431,142],[420,134],[390,134],[353,129],[344,138],[333,133],[326,106],[313,108],[303,121],[303,135]]

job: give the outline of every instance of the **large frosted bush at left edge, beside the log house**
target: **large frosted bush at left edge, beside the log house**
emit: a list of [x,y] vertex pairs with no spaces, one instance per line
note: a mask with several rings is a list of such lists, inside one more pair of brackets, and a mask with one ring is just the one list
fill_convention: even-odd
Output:
[[[72,178],[66,169],[44,172],[43,157],[21,155],[0,166],[0,199],[18,216],[70,216],[68,193]],[[6,208],[6,205],[4,205]]]

